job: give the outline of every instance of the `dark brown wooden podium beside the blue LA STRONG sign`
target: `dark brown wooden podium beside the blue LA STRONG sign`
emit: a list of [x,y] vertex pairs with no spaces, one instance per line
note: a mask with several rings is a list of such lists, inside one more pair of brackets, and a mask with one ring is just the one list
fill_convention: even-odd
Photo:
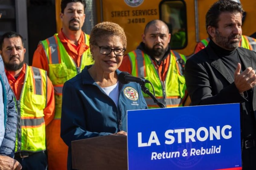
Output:
[[127,138],[107,135],[71,142],[74,169],[128,169]]

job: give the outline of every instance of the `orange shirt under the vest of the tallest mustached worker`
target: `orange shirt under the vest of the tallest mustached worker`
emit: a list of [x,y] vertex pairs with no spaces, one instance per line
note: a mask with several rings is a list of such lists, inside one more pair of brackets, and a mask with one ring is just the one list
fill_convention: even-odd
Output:
[[[67,39],[62,30],[58,33],[58,37],[68,52],[69,56],[72,57],[76,65],[79,67],[82,54],[89,48],[89,46],[85,44],[84,32],[81,33],[81,36],[78,40],[78,45],[73,44],[69,39]],[[43,45],[40,44],[37,46],[37,49],[34,52],[32,66],[46,70],[48,73],[48,64],[48,59],[44,52]]]

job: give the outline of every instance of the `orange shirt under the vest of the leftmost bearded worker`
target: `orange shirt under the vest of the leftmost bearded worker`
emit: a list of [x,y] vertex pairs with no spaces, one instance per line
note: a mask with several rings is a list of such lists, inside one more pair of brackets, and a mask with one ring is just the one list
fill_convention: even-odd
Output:
[[[20,97],[21,97],[21,90],[23,88],[24,79],[25,79],[25,71],[26,71],[26,64],[23,65],[23,68],[22,68],[19,76],[17,77],[17,79],[15,79],[15,77],[13,76],[11,71],[5,70],[8,82],[9,82],[17,100],[20,100]],[[46,104],[45,109],[43,110],[43,114],[44,114],[45,125],[48,125],[51,122],[51,120],[54,118],[54,107],[55,107],[53,85],[48,77],[47,77],[47,100],[46,100],[46,102],[47,102],[47,104]]]

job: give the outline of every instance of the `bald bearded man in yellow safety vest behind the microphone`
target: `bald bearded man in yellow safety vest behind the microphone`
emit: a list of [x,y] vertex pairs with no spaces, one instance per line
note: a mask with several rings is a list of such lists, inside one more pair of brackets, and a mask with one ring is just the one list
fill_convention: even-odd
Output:
[[[155,89],[155,97],[166,107],[188,105],[184,65],[186,57],[169,46],[171,34],[168,26],[161,20],[152,20],[146,24],[142,42],[136,50],[123,58],[119,70],[136,77],[149,80]],[[153,91],[150,84],[146,84]],[[152,98],[143,94],[149,108],[158,108]]]

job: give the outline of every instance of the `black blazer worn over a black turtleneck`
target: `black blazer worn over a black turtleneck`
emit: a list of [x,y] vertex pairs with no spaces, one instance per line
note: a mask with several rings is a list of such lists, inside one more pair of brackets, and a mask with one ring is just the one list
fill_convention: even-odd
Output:
[[[256,69],[256,53],[254,51],[240,47],[236,50],[242,66]],[[233,76],[230,75],[210,45],[187,60],[185,79],[191,105],[242,103],[246,101],[239,94]],[[256,114],[256,86],[252,90],[252,104],[254,114]]]

